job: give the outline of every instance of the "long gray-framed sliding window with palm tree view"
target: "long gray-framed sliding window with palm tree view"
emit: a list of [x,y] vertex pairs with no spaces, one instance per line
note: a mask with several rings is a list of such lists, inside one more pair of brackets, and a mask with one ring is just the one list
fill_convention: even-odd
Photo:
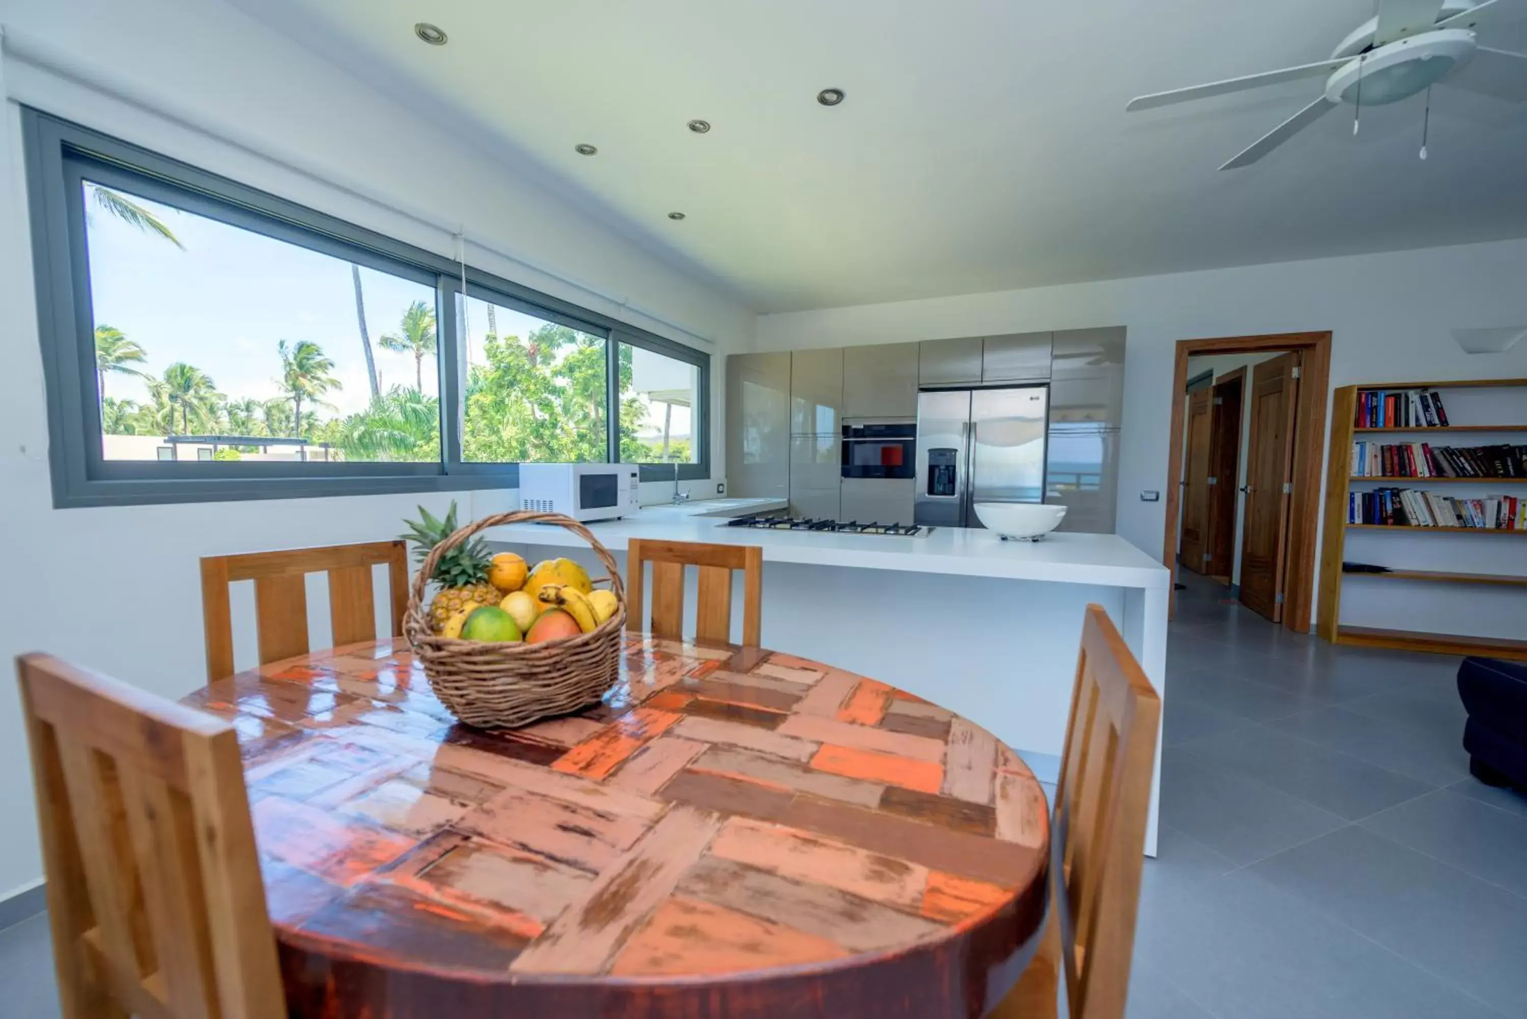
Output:
[[530,461],[709,475],[704,351],[34,110],[23,130],[56,506],[512,487]]

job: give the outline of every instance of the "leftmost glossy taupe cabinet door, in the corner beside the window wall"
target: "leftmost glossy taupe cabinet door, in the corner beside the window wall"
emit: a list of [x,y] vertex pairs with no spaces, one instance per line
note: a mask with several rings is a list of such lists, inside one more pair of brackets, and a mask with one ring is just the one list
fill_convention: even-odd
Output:
[[738,497],[789,497],[789,351],[727,357],[727,480]]

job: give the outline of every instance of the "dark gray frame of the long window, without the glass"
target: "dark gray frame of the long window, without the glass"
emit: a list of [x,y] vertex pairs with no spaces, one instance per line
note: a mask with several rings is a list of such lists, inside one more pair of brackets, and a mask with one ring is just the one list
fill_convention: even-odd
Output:
[[[412,244],[159,156],[87,127],[21,107],[32,218],[38,335],[47,391],[53,506],[131,506],[229,500],[315,498],[391,492],[518,487],[519,464],[461,460],[460,345],[441,342],[441,458],[438,463],[180,463],[107,461],[95,373],[95,324],[81,180],[119,186],[241,229],[345,261],[415,280],[435,290],[438,335],[455,338],[461,266]],[[620,319],[467,266],[466,286],[483,298],[603,336],[606,353],[606,458],[618,461],[618,350],[631,344],[699,370],[695,442],[699,461],[680,477],[710,477],[710,354]],[[670,464],[640,464],[643,481],[670,480]]]

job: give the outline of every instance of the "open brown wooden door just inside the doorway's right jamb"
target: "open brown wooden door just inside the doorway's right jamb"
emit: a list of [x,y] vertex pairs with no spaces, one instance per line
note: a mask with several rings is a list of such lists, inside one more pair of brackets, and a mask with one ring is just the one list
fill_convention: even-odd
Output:
[[1252,368],[1240,600],[1275,623],[1283,622],[1298,396],[1298,353],[1281,354]]

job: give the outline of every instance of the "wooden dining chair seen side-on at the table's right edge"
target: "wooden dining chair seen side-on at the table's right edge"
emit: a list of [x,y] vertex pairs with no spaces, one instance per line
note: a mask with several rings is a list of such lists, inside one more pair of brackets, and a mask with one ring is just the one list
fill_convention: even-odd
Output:
[[1051,917],[993,1019],[1122,1019],[1135,956],[1161,698],[1098,605],[1087,607],[1051,822]]

